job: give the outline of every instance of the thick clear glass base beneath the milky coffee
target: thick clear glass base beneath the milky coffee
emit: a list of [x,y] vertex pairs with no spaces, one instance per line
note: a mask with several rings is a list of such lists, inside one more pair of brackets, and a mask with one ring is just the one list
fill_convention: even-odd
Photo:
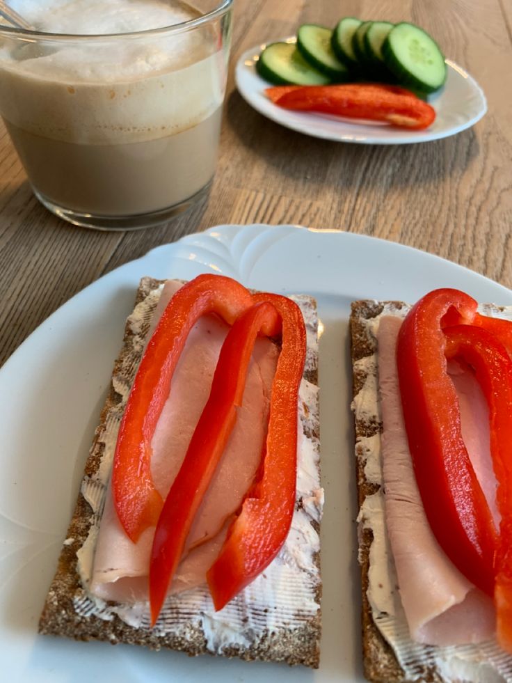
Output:
[[131,216],[102,216],[99,214],[86,214],[72,209],[66,209],[45,197],[44,194],[38,192],[33,187],[33,192],[40,203],[45,206],[51,213],[59,218],[72,223],[74,226],[81,228],[92,228],[93,230],[141,230],[142,228],[153,228],[161,226],[162,223],[186,211],[192,204],[199,201],[203,196],[208,194],[211,186],[211,181],[205,185],[198,192],[193,194],[188,199],[185,199],[179,204],[153,211],[146,214],[134,214]]

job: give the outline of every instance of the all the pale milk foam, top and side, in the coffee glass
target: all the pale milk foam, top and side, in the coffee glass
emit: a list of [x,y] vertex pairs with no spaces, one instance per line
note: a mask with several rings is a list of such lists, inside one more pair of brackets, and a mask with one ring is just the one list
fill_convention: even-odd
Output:
[[[47,31],[110,33],[168,26],[197,10],[161,0],[16,0]],[[140,38],[3,38],[0,113],[30,133],[64,142],[117,144],[169,136],[223,101],[225,56],[211,26]]]

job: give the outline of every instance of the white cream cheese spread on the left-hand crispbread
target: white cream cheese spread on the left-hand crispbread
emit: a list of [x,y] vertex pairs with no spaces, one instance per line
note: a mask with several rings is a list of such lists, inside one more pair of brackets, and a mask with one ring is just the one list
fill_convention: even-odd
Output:
[[[152,291],[136,306],[127,321],[133,334],[134,349],[132,356],[125,359],[127,367],[140,356],[160,292],[161,288]],[[306,366],[312,370],[317,362],[316,312],[307,297],[294,298],[305,317],[308,339]],[[106,604],[88,590],[122,407],[129,394],[129,382],[123,379],[122,369],[114,382],[115,391],[122,396],[122,405],[109,415],[101,435],[104,452],[97,474],[86,477],[81,488],[91,507],[92,524],[86,542],[77,553],[83,590],[75,595],[74,607],[83,616],[95,615],[111,620],[113,615],[118,615],[130,626],[149,629],[147,602]],[[318,387],[303,379],[299,391],[296,511],[287,540],[275,560],[221,611],[214,610],[207,586],[171,595],[163,606],[154,632],[186,637],[187,629],[197,627],[204,634],[207,649],[221,654],[227,647],[254,644],[269,631],[294,628],[300,626],[301,621],[317,615],[321,586],[319,566],[315,561],[320,550],[317,523],[321,519],[323,505],[316,435],[318,425]]]

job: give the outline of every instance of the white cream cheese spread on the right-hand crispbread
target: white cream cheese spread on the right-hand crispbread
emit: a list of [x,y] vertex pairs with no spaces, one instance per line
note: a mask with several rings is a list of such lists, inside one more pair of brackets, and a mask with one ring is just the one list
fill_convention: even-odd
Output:
[[[512,309],[502,311],[492,305],[479,308],[485,315],[512,319]],[[383,311],[365,321],[369,340],[376,340],[379,320],[384,315],[405,317],[408,306],[397,308],[386,304]],[[377,352],[355,363],[355,371],[366,377],[352,403],[356,421],[380,423],[378,397]],[[392,647],[407,680],[422,680],[425,669],[435,668],[447,683],[512,682],[512,657],[503,652],[495,640],[469,645],[437,646],[415,643],[410,638],[406,615],[401,604],[397,573],[387,537],[385,504],[382,488],[381,434],[359,439],[355,453],[364,463],[367,481],[381,485],[362,503],[358,524],[360,531],[369,528],[374,540],[369,549],[369,587],[367,597],[379,631]],[[425,586],[425,589],[427,587]]]

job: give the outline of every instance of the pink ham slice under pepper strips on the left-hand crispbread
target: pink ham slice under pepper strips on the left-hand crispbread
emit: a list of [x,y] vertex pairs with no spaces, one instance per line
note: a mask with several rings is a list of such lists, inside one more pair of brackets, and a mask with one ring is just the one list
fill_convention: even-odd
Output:
[[[152,329],[177,288],[179,284],[173,281],[164,286]],[[184,460],[207,401],[227,329],[216,315],[202,317],[191,330],[177,364],[170,395],[152,439],[152,477],[163,498]],[[277,347],[268,339],[257,339],[243,404],[237,409],[237,423],[194,520],[171,592],[205,582],[206,571],[218,555],[227,524],[255,478],[266,438],[277,359]],[[95,551],[92,592],[119,602],[147,599],[153,535],[154,528],[148,528],[136,544],[129,540],[118,521],[109,489]]]

